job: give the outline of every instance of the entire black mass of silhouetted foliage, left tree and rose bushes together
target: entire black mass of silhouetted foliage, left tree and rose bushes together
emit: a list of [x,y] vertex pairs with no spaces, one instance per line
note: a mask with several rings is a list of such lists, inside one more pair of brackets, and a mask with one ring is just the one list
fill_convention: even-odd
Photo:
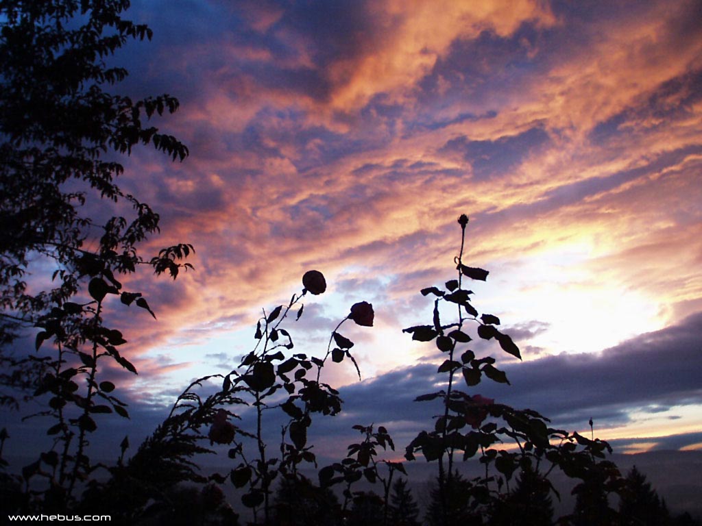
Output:
[[[2,513],[111,515],[112,523],[125,525],[417,525],[405,465],[384,426],[353,426],[357,441],[346,456],[317,465],[309,431],[343,410],[339,392],[322,382],[322,369],[352,367],[361,377],[343,327],[372,328],[375,311],[368,302],[352,304],[326,349],[298,349],[291,319],[327,287],[316,270],[305,273],[289,302],[263,311],[253,349],[237,367],[187,386],[144,443],[134,450],[128,437],[122,440],[114,464],[91,461],[98,425],[129,416],[120,386],[105,379],[105,370],[116,364],[137,372],[124,335],[106,320],[117,309],[156,318],[140,292],[124,288],[122,276],[147,267],[176,278],[192,268],[182,262],[193,252],[187,243],[150,259],[140,255],[140,243],[159,231],[159,215],[116,182],[123,168],[112,159],[138,145],[174,161],[188,154],[148,124],[175,112],[175,98],[135,101],[107,89],[127,74],[107,58],[130,39],[151,37],[148,27],[122,18],[128,6],[127,0],[0,0],[0,404],[17,409],[32,399],[50,443],[10,473],[2,459],[9,436],[0,432]],[[110,206],[91,208],[93,201]],[[470,342],[492,342],[516,359],[521,353],[501,320],[474,306],[465,284],[489,273],[465,264],[468,217],[458,224],[456,275],[420,291],[433,303],[432,318],[404,330],[441,357],[435,384],[442,389],[418,393],[416,401],[437,400],[442,410],[428,414],[428,429],[404,448],[406,461],[421,457],[437,468],[425,523],[686,524],[688,518],[670,518],[640,473],[621,476],[607,459],[606,442],[480,395],[481,382],[509,379],[494,356],[476,353]],[[55,271],[41,288],[28,276],[46,262]],[[27,330],[36,353],[13,353]],[[243,412],[254,415],[251,425]],[[264,430],[274,414],[285,424],[271,442]],[[200,456],[223,446],[221,472],[204,476]],[[484,467],[482,476],[458,474],[456,464],[469,460]],[[303,468],[317,476],[310,480]],[[549,477],[557,471],[574,480],[577,501],[573,513],[553,518],[559,494]],[[359,489],[362,480],[377,491]],[[223,485],[237,490],[237,502],[227,503]]]

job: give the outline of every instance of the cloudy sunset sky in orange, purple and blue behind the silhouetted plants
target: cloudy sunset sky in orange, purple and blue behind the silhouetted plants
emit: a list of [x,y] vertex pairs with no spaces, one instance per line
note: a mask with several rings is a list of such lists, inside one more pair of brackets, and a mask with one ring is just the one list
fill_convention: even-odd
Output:
[[128,15],[154,38],[114,58],[131,73],[115,89],[178,97],[156,124],[190,156],[135,150],[121,184],[161,214],[146,252],[196,254],[175,282],[125,282],[157,321],[107,318],[139,370],[108,372],[133,412],[118,443],[232,370],[261,309],[317,269],[329,288],[287,323],[296,351],[323,356],[356,302],[376,318],[340,329],[363,380],[329,367],[344,411],[315,422],[315,447],[343,454],[374,423],[404,450],[433,428],[412,400],[444,356],[402,329],[431,323],[420,289],[456,278],[465,213],[464,262],[490,271],[473,304],[523,357],[475,344],[511,386],[472,393],[571,431],[592,418],[618,452],[702,448],[702,2],[144,0]]

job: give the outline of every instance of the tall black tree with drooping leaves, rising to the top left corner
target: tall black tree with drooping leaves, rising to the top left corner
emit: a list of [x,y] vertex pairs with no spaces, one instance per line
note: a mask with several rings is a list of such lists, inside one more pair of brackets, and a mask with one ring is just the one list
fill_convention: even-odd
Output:
[[[152,36],[147,26],[121,17],[129,4],[0,3],[0,344],[38,323],[48,329],[46,339],[75,344],[84,336],[80,326],[46,315],[76,295],[82,282],[100,276],[117,286],[110,276],[143,262],[137,245],[159,230],[159,215],[117,185],[124,168],[112,153],[153,144],[174,160],[188,154],[175,137],[145,123],[154,114],[176,112],[176,98],[132,100],[108,91],[127,71],[108,66],[107,57],[129,39]],[[110,218],[102,215],[108,208],[86,205],[100,199],[124,203],[121,210],[133,213]],[[157,271],[177,273],[178,265],[166,259],[154,259]],[[51,288],[36,279],[27,283],[32,271],[46,268],[53,272]],[[72,309],[68,314],[79,313]],[[27,364],[5,358],[3,365],[15,370]],[[29,363],[25,370],[39,367]],[[23,385],[18,375],[0,379]],[[4,397],[0,401],[13,401]]]

